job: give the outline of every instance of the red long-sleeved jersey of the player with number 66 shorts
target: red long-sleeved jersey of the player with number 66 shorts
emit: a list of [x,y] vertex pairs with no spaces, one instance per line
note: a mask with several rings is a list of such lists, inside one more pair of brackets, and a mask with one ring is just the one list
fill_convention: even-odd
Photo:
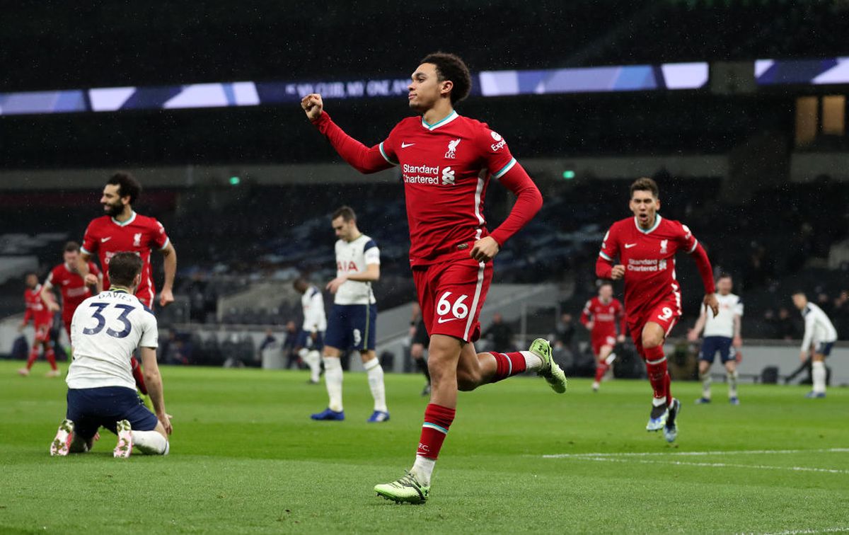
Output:
[[[360,172],[400,166],[413,266],[468,258],[475,240],[487,235],[503,245],[542,206],[537,186],[510,155],[504,138],[456,111],[435,124],[408,117],[371,149],[348,137],[326,112],[314,123]],[[490,177],[517,196],[509,217],[492,233],[483,215]]]

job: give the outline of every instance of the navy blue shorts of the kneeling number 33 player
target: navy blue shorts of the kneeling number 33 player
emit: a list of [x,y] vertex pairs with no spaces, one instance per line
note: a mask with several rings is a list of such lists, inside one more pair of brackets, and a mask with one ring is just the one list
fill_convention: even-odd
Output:
[[101,426],[115,433],[115,422],[121,420],[136,431],[153,431],[159,423],[136,391],[125,386],[69,388],[65,418],[74,422],[74,432],[84,440],[91,440]]

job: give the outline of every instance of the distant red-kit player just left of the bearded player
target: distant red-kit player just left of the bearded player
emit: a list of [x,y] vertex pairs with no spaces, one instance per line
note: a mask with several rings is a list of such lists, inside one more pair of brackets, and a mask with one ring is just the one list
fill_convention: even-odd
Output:
[[88,262],[88,276],[83,279],[77,271],[77,261],[80,256],[80,244],[76,241],[69,241],[65,244],[63,251],[63,260],[65,262],[59,264],[48,275],[48,279],[44,281],[43,290],[41,293],[42,301],[48,306],[52,312],[59,311],[59,304],[53,297],[53,288],[59,288],[62,294],[62,324],[65,325],[65,332],[70,340],[70,320],[74,317],[76,307],[92,296],[91,286],[97,288],[99,294],[103,290],[103,275],[94,262]]

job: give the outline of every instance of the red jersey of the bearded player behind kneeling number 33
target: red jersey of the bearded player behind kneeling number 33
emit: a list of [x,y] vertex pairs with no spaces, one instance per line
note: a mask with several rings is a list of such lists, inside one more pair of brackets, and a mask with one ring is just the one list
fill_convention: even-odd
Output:
[[153,303],[156,294],[153,278],[150,274],[151,249],[163,250],[168,246],[165,228],[153,217],[132,212],[126,222],[118,222],[114,217],[103,216],[88,223],[86,235],[82,240],[82,252],[97,254],[104,271],[104,288],[109,288],[109,261],[115,253],[133,251],[142,257],[142,281],[136,289],[136,296],[147,306]]

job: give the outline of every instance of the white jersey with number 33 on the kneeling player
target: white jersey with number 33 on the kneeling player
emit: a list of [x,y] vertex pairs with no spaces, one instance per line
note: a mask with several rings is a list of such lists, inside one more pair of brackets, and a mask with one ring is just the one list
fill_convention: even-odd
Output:
[[65,382],[69,388],[126,386],[136,389],[130,358],[137,347],[159,346],[156,318],[138,297],[104,291],[76,307],[70,321],[74,360]]

